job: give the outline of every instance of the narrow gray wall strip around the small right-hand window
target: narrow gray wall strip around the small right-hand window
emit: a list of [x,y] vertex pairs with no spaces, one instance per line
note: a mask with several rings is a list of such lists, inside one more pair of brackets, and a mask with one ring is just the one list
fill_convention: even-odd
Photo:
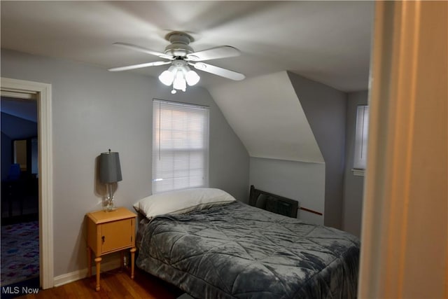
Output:
[[368,92],[351,92],[347,100],[346,158],[344,173],[344,221],[342,228],[360,237],[363,214],[364,176],[354,176],[353,151],[355,148],[356,106],[367,104]]

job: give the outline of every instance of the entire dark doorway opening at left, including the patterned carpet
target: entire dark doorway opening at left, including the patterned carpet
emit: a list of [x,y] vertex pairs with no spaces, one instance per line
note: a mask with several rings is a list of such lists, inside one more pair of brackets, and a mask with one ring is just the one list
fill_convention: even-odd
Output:
[[17,96],[0,103],[2,287],[39,272],[37,100]]

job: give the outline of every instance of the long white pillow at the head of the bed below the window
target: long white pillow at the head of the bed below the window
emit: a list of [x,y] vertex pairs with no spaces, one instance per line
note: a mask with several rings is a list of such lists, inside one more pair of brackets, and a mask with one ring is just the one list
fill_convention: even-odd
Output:
[[234,201],[235,197],[221,189],[191,188],[150,195],[136,202],[134,209],[151,219],[162,214],[187,214]]

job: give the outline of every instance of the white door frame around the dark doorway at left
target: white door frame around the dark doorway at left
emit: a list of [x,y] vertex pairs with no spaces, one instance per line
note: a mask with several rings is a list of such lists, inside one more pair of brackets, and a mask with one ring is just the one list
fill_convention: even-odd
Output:
[[37,98],[39,274],[42,288],[54,286],[53,267],[53,180],[51,84],[1,77],[1,91],[20,92]]

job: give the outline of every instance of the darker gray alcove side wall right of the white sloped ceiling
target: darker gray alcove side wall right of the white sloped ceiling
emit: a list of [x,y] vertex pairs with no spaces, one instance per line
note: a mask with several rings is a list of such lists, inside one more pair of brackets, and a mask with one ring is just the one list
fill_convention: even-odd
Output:
[[324,224],[342,228],[346,94],[288,72],[325,160]]

